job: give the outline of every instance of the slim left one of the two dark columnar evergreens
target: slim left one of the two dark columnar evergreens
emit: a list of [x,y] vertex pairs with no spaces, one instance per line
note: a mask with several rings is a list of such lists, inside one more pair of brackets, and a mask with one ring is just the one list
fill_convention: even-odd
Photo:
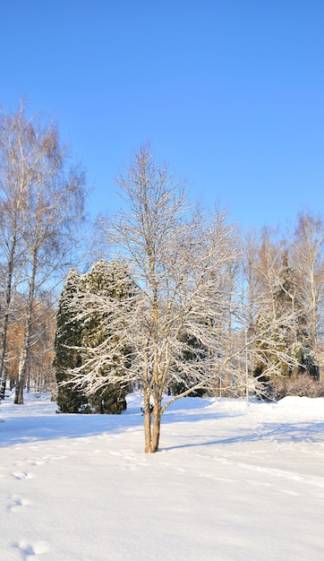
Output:
[[79,389],[61,385],[68,380],[66,370],[81,366],[81,322],[76,319],[75,302],[80,301],[81,278],[76,269],[69,272],[59,299],[55,332],[55,376],[58,384],[57,405],[62,413],[80,413],[88,399]]

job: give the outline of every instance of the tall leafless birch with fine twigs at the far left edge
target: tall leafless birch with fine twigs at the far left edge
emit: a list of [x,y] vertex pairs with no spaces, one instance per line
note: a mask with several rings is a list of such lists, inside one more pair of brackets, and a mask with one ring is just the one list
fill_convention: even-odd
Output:
[[38,321],[35,299],[44,290],[48,293],[55,278],[71,265],[83,216],[84,173],[72,167],[56,125],[43,125],[38,115],[27,117],[22,103],[15,113],[3,113],[1,125],[1,213],[6,220],[2,248],[6,261],[0,364],[3,368],[15,275],[15,289],[26,298],[15,394],[15,403],[22,403],[30,347],[35,342],[32,326]]

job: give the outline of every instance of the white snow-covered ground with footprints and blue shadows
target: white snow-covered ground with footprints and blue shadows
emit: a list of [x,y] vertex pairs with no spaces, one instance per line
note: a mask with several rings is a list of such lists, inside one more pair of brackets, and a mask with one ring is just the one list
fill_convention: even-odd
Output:
[[324,559],[324,399],[185,398],[149,455],[140,408],[1,404],[1,560]]

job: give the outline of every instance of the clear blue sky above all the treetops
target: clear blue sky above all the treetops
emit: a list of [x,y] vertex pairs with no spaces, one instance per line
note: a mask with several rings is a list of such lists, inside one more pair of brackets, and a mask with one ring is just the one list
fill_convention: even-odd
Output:
[[93,215],[151,142],[243,227],[324,211],[323,0],[0,0],[0,103],[55,116]]

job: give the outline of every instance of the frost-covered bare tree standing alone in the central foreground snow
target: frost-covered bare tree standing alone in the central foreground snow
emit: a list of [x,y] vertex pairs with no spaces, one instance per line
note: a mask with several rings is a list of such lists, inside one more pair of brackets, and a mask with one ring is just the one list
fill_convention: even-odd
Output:
[[[103,222],[103,236],[118,251],[138,289],[122,302],[89,295],[86,314],[105,310],[110,335],[96,353],[92,349],[90,365],[72,370],[72,384],[91,393],[120,380],[124,358],[118,351],[128,346],[125,380],[141,379],[145,452],[155,453],[161,416],[170,403],[213,387],[215,376],[231,368],[229,352],[233,358],[237,349],[230,350],[225,325],[239,303],[233,306],[234,277],[228,284],[226,271],[240,250],[226,213],[216,211],[207,220],[200,210],[190,209],[183,189],[166,167],[158,168],[148,148],[135,154],[116,183],[127,210],[111,224]],[[110,370],[102,377],[105,362]],[[165,402],[173,381],[184,384],[183,392]]]

